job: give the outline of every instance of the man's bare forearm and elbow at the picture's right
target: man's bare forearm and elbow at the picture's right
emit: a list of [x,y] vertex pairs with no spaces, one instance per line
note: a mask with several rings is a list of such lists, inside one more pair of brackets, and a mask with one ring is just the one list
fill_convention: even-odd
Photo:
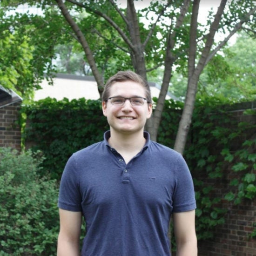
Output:
[[195,210],[173,214],[177,256],[197,256]]

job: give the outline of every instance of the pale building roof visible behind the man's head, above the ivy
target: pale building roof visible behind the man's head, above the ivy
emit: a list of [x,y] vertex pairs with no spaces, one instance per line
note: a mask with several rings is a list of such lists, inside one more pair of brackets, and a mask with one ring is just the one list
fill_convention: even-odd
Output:
[[[45,99],[47,97],[55,98],[56,100],[69,100],[85,98],[97,100],[100,98],[97,83],[94,76],[81,76],[72,74],[56,74],[53,78],[53,85],[44,79],[41,83],[41,89],[35,91],[34,101]],[[160,86],[156,83],[149,82],[152,97],[159,96]],[[167,94],[166,99],[177,98],[172,94]]]

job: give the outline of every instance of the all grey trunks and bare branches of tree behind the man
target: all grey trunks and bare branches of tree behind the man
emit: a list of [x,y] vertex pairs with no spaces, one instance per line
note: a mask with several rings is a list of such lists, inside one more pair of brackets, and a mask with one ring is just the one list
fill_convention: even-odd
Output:
[[[97,71],[97,66],[94,60],[92,59],[92,54],[90,52],[90,47],[88,45],[88,42],[86,40],[86,35],[83,35],[81,33],[81,30],[79,29],[79,26],[74,22],[72,19],[70,13],[68,12],[67,6],[62,2],[62,0],[56,0],[58,6],[61,9],[61,12],[67,22],[70,24],[70,26],[73,28],[74,32],[76,33],[79,41],[81,42],[85,53],[87,54],[89,64],[92,68],[93,74],[96,78],[96,81],[100,87],[103,86],[101,76],[99,76]],[[148,30],[148,34],[144,41],[142,41],[141,36],[141,30],[139,26],[139,20],[138,15],[135,10],[135,5],[133,0],[127,1],[127,10],[126,10],[126,16],[121,11],[120,8],[117,7],[114,1],[108,1],[119,13],[119,15],[122,17],[124,23],[127,26],[128,35],[124,33],[124,31],[121,29],[120,26],[118,26],[115,23],[114,19],[111,19],[107,13],[104,13],[102,11],[102,5],[103,3],[99,1],[97,4],[100,6],[100,8],[93,8],[92,6],[88,6],[86,4],[81,4],[74,0],[68,0],[69,3],[72,3],[73,5],[76,5],[77,7],[85,8],[90,13],[93,13],[94,15],[98,15],[108,21],[110,26],[114,27],[122,39],[126,42],[130,57],[134,66],[135,71],[138,74],[141,74],[144,78],[146,78],[146,62],[145,62],[145,55],[144,50],[146,48],[146,45],[148,44],[149,40],[153,37],[155,27],[157,25],[157,21],[160,20],[164,15],[167,15],[169,17],[172,17],[171,14],[175,17],[175,19],[171,19],[171,26],[165,27],[165,31],[168,33],[165,33],[165,36],[163,36],[165,43],[166,43],[166,54],[163,57],[162,61],[164,61],[164,74],[163,74],[163,81],[162,81],[162,88],[159,95],[159,99],[155,108],[155,112],[153,117],[151,118],[151,121],[148,122],[148,130],[150,131],[150,134],[153,139],[156,139],[157,136],[157,129],[159,127],[159,123],[161,121],[161,114],[163,109],[163,102],[165,99],[165,96],[168,91],[168,85],[171,79],[171,73],[172,73],[172,67],[175,64],[175,61],[178,60],[180,57],[179,54],[175,52],[175,47],[177,44],[182,44],[186,40],[184,38],[184,32],[189,32],[189,44],[186,44],[187,47],[189,47],[189,50],[186,54],[188,54],[188,88],[187,88],[187,94],[185,99],[185,105],[182,113],[182,118],[180,121],[176,141],[175,141],[175,149],[179,152],[183,152],[187,134],[190,127],[190,122],[192,119],[192,113],[193,108],[195,105],[195,94],[197,90],[197,84],[200,77],[200,74],[202,73],[203,68],[206,66],[206,64],[210,61],[210,59],[217,53],[217,51],[229,40],[229,38],[236,33],[239,29],[241,29],[242,25],[250,20],[250,15],[255,14],[256,7],[253,6],[252,2],[250,3],[251,6],[249,6],[249,1],[247,3],[240,1],[241,9],[243,8],[243,12],[240,12],[240,20],[235,23],[233,21],[234,16],[232,13],[227,13],[224,15],[224,9],[227,4],[227,0],[222,0],[220,3],[220,6],[218,7],[218,10],[216,12],[216,15],[214,17],[214,20],[210,23],[209,32],[208,34],[202,34],[198,33],[198,10],[199,10],[199,3],[200,0],[195,0],[192,4],[192,7],[190,6],[189,0],[182,1],[168,1],[165,5],[162,6],[162,4],[159,6],[157,3],[154,3],[155,10],[160,13],[156,19],[156,22],[152,24],[150,29]],[[234,4],[230,4],[230,9],[234,10]],[[94,6],[95,7],[95,6]],[[170,12],[168,13],[167,10],[170,8]],[[192,12],[189,11],[189,8],[192,8]],[[108,8],[107,8],[108,10]],[[175,15],[175,11],[179,11],[178,15]],[[188,17],[186,14],[190,14],[191,12],[191,21],[190,21],[190,29],[189,31],[186,31],[186,25],[188,25]],[[168,13],[168,14],[167,14]],[[237,10],[236,10],[237,13]],[[224,17],[223,20],[227,19],[225,24],[222,24],[222,16]],[[232,22],[233,21],[233,22]],[[174,23],[174,25],[173,25]],[[163,25],[163,24],[162,24]],[[222,25],[222,26],[221,26]],[[216,31],[219,27],[222,27],[222,29],[228,29],[230,31],[229,35],[221,42],[219,43],[214,50],[211,51],[212,47],[214,46],[214,37],[216,34]],[[199,39],[203,38],[205,40],[205,43],[203,46],[201,46],[201,55],[197,56],[196,53],[198,51],[198,48],[196,47],[197,44],[200,45]],[[181,48],[181,52],[184,51],[184,47]],[[200,50],[200,49],[199,49]],[[196,61],[198,63],[196,64]],[[97,79],[97,77],[99,77]]]

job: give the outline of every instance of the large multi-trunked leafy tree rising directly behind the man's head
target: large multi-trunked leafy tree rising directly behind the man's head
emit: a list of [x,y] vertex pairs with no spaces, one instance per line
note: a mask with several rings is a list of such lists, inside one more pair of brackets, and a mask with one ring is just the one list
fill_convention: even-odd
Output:
[[[116,71],[111,64],[118,63],[120,59],[123,63],[117,68],[132,67],[145,79],[147,73],[163,67],[161,92],[154,114],[147,123],[153,140],[157,138],[173,69],[186,67],[187,93],[175,141],[175,149],[181,153],[203,69],[233,34],[245,28],[255,29],[256,7],[253,0],[230,0],[228,4],[227,0],[221,0],[216,13],[209,12],[206,25],[198,22],[200,0],[150,1],[148,7],[140,10],[136,10],[134,0],[127,0],[125,8],[118,0],[66,0],[65,3],[62,0],[23,0],[22,3],[37,3],[42,10],[49,10],[46,8],[49,5],[54,8],[56,4],[66,20],[62,24],[68,24],[69,28],[65,25],[67,32],[81,44],[100,94],[104,79],[111,71]],[[50,12],[48,15],[51,17]],[[217,32],[226,35],[219,42],[216,40]]]

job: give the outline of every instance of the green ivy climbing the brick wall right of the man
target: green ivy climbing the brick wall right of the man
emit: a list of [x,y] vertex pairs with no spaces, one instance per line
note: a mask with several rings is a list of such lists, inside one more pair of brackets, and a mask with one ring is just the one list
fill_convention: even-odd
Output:
[[[182,103],[165,102],[158,136],[160,143],[173,147],[181,109]],[[244,115],[255,114],[252,109],[244,111]],[[223,199],[238,204],[256,197],[255,130],[255,123],[237,121],[218,99],[196,102],[184,157],[193,177],[197,177],[194,184],[199,240],[212,238],[214,228],[225,222],[227,209],[222,208]],[[233,176],[229,182],[232,191],[223,198],[206,181],[218,182],[226,169]]]

